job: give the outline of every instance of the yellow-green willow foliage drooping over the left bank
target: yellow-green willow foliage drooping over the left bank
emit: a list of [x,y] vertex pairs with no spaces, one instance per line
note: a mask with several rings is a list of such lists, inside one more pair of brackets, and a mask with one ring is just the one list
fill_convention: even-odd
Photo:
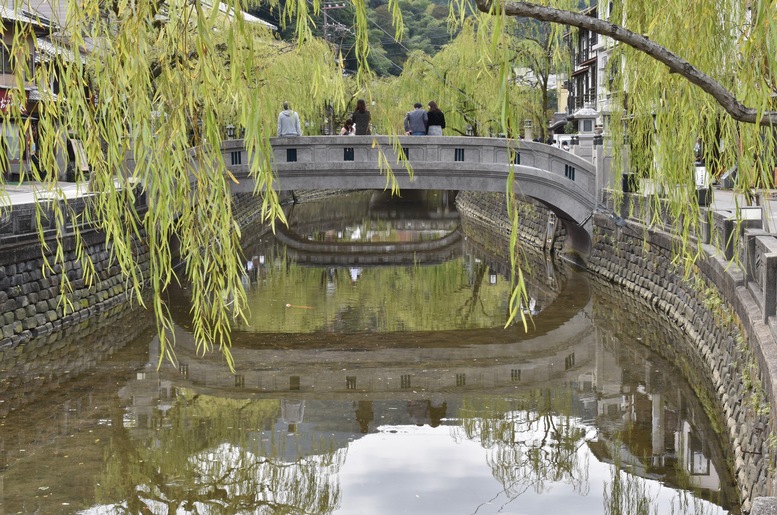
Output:
[[[24,7],[19,3],[14,9]],[[306,8],[304,2],[298,8]],[[24,91],[25,81],[43,92],[55,80],[64,85],[59,95],[44,95],[39,103],[40,170],[57,169],[56,156],[66,152],[67,139],[82,141],[90,187],[100,193],[84,216],[105,232],[107,248],[138,301],[151,303],[163,349],[169,355],[170,318],[162,293],[179,279],[170,247],[178,240],[185,263],[180,279],[192,289],[198,341],[203,350],[221,347],[231,360],[229,330],[245,304],[232,179],[218,148],[226,126],[242,129],[251,173],[262,191],[262,213],[267,220],[283,221],[278,197],[268,187],[269,138],[282,101],[291,101],[303,120],[314,117],[321,98],[342,101],[344,81],[331,49],[309,37],[302,22],[297,41],[289,45],[263,26],[247,23],[239,11],[199,1],[71,2],[62,23],[51,38],[63,50],[49,66],[29,66],[30,24],[18,23],[9,45],[18,91]],[[21,114],[18,107],[4,111],[3,124],[22,119]],[[24,124],[21,131],[29,133],[30,120]],[[135,163],[131,169],[125,166],[127,155]],[[33,168],[33,178],[61,195],[56,175],[44,177],[40,170]],[[134,207],[135,185],[148,199],[147,211]],[[66,205],[55,208],[54,216],[63,219]],[[58,238],[64,237],[60,232]],[[147,276],[135,263],[138,237],[149,249]],[[61,249],[56,245],[46,254],[47,273],[65,259]],[[78,255],[86,279],[95,280],[83,249]],[[149,289],[151,295],[142,294]],[[224,298],[234,302],[228,306]]]

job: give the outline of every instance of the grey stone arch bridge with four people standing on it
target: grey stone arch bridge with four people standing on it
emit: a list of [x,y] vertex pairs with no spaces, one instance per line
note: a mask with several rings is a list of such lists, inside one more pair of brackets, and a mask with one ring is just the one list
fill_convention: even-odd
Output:
[[[398,142],[393,146],[392,141]],[[273,138],[272,166],[278,191],[386,189],[390,166],[402,190],[504,192],[511,170],[513,191],[553,211],[567,230],[567,245],[587,255],[592,214],[601,189],[590,161],[544,143],[505,138],[448,136],[303,136]],[[233,192],[253,191],[243,140],[225,140],[221,152],[237,179]],[[412,176],[405,164],[412,168]]]

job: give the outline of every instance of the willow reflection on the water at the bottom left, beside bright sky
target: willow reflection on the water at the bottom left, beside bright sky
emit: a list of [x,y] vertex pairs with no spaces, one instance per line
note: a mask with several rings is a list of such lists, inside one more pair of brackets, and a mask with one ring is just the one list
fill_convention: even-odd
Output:
[[117,411],[97,497],[117,513],[331,513],[346,451],[277,434],[280,414],[276,400],[186,392],[149,428]]

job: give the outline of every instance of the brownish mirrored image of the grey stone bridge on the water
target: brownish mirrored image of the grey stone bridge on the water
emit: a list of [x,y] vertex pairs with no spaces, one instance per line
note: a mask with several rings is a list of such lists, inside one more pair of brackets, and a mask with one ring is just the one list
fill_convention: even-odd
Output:
[[406,398],[457,388],[515,391],[562,378],[576,381],[578,366],[592,359],[587,285],[584,276],[573,274],[566,294],[553,302],[553,316],[535,317],[528,333],[520,325],[304,337],[236,332],[232,353],[239,379],[220,361],[197,357],[191,336],[180,328],[176,354],[187,380],[198,388],[231,389],[238,381],[252,395]]

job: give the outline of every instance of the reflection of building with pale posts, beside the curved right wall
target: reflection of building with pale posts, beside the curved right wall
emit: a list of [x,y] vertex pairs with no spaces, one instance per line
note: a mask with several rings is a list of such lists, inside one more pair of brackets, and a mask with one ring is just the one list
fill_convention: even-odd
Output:
[[706,415],[698,404],[690,410],[691,397],[679,385],[672,388],[671,367],[662,369],[646,350],[629,354],[616,339],[603,336],[597,346],[593,388],[600,432],[589,443],[597,457],[644,478],[719,492],[723,485],[705,444],[715,435],[696,432],[694,418]]

